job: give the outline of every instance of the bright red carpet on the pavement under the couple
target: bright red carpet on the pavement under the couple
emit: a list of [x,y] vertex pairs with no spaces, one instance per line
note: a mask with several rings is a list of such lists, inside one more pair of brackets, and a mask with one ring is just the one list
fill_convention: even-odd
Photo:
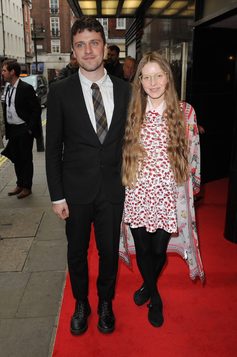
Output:
[[75,308],[67,276],[53,357],[151,357],[151,356],[237,356],[237,245],[223,237],[228,179],[201,186],[196,203],[199,246],[206,279],[191,281],[188,266],[175,253],[168,253],[158,290],[163,301],[164,323],[152,327],[146,304],[136,306],[133,293],[140,287],[135,255],[132,269],[119,262],[113,309],[115,331],[97,330],[96,278],[98,256],[94,236],[89,251],[88,330],[70,334],[70,317]]

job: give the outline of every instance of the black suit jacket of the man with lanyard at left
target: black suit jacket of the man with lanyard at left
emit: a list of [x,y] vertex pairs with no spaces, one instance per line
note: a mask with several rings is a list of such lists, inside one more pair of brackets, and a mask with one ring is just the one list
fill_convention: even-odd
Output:
[[[9,87],[6,91],[6,96],[8,95]],[[21,80],[16,87],[15,95],[15,109],[16,114],[26,122],[27,129],[32,131],[32,135],[35,138],[41,136],[41,106],[39,100],[36,96],[34,88]],[[9,124],[6,120],[6,97],[4,105],[4,120],[5,120],[5,129],[6,129],[6,139],[9,138]]]

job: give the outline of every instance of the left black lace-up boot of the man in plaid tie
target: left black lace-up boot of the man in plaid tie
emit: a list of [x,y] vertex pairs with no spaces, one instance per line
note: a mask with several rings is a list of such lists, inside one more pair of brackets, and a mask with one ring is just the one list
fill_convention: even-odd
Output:
[[91,313],[88,299],[76,300],[75,312],[71,317],[70,332],[72,335],[81,335],[87,330],[87,317]]

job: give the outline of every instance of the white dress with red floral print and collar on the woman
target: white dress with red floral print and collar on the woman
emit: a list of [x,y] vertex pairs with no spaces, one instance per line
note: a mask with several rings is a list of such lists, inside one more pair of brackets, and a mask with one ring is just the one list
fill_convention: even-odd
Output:
[[165,101],[154,109],[148,97],[141,128],[141,143],[147,157],[143,167],[140,165],[135,190],[126,187],[124,221],[130,223],[131,228],[146,227],[148,232],[161,228],[173,233],[177,232],[178,185],[166,152],[168,128],[162,116],[165,109]]

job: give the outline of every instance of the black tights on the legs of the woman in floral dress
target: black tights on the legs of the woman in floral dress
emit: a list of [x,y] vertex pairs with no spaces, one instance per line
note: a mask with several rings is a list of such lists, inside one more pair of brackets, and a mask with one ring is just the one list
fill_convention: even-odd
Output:
[[166,249],[171,233],[163,229],[146,231],[146,227],[131,228],[136,249],[137,266],[150,292],[151,301],[160,302],[156,282],[166,262]]

